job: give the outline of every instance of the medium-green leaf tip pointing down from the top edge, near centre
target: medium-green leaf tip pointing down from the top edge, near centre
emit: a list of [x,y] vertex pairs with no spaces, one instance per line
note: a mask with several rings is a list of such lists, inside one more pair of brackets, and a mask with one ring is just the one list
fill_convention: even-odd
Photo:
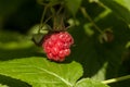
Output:
[[82,0],[65,0],[65,4],[69,12],[75,15],[78,11]]

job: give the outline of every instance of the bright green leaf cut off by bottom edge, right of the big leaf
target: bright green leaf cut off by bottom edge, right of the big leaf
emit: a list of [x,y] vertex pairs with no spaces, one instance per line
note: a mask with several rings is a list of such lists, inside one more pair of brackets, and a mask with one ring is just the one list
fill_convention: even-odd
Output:
[[76,84],[76,87],[109,87],[101,82],[95,82],[90,78],[83,78]]

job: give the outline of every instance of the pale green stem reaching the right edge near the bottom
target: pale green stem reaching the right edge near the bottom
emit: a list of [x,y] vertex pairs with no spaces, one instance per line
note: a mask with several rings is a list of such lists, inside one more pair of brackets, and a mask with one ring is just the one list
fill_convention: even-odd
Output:
[[126,76],[121,76],[121,77],[117,77],[117,78],[112,78],[112,79],[107,79],[107,80],[103,80],[103,84],[110,84],[110,83],[117,83],[120,80],[125,80],[125,79],[129,79],[130,75],[126,75]]

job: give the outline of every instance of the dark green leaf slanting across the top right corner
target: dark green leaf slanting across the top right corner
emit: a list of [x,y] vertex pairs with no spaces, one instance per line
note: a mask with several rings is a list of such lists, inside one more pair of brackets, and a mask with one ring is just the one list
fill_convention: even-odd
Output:
[[116,15],[122,18],[128,25],[130,24],[130,11],[129,8],[122,7],[113,0],[100,0],[104,5],[109,8]]

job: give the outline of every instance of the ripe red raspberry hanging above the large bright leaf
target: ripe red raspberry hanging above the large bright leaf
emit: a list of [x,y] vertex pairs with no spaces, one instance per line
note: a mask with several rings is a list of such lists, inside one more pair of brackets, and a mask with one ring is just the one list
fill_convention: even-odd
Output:
[[67,32],[54,32],[44,36],[42,48],[48,59],[61,62],[70,54],[73,44],[74,39]]

